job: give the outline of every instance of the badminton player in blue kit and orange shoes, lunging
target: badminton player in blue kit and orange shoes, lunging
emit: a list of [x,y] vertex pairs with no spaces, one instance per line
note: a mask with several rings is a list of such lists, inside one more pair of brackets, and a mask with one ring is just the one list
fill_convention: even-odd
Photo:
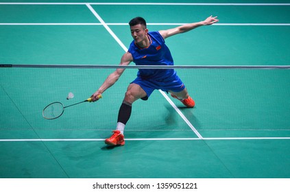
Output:
[[[202,25],[212,25],[218,21],[217,16],[209,16],[206,20],[197,23],[158,32],[148,32],[146,21],[141,17],[136,17],[129,23],[134,40],[130,44],[128,52],[123,54],[120,65],[128,65],[130,62],[134,62],[136,65],[173,65],[173,58],[165,45],[165,38],[189,32]],[[104,84],[91,96],[93,101],[97,101],[101,93],[117,82],[124,70],[117,69],[111,73]],[[186,107],[195,106],[195,101],[189,96],[174,69],[139,69],[136,79],[128,86],[119,109],[117,128],[113,131],[112,136],[106,139],[106,144],[125,145],[123,132],[125,124],[131,116],[132,104],[137,99],[147,100],[156,89],[171,93],[172,97],[180,100]]]

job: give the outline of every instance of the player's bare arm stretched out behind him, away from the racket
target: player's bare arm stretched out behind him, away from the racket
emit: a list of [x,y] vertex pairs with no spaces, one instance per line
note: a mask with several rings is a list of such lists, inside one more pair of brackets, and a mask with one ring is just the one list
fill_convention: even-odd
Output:
[[195,28],[203,26],[203,25],[213,25],[213,23],[217,23],[218,21],[219,21],[219,19],[217,19],[217,16],[208,16],[208,18],[206,18],[206,20],[204,20],[204,21],[181,25],[181,26],[173,28],[173,29],[160,30],[159,33],[165,39],[169,36],[189,32],[192,29],[195,29]]

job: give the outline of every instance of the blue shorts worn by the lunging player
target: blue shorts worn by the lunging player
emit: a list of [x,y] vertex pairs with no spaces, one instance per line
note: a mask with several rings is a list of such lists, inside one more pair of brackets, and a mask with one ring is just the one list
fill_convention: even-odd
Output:
[[180,80],[180,77],[176,75],[176,73],[165,78],[164,80],[150,80],[148,78],[144,79],[138,76],[133,82],[131,82],[131,84],[132,83],[138,84],[146,92],[147,96],[141,98],[143,100],[147,100],[156,89],[161,89],[162,91],[166,91],[168,93],[168,91],[180,92],[185,88],[183,82]]

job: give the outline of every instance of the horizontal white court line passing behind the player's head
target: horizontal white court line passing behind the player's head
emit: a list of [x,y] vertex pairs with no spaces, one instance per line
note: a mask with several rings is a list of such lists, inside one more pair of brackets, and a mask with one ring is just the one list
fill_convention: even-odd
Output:
[[[147,25],[184,25],[186,23],[147,23]],[[0,23],[0,25],[104,25],[103,23]],[[106,23],[106,25],[129,25],[128,23]],[[290,23],[215,23],[220,26],[290,26]]]

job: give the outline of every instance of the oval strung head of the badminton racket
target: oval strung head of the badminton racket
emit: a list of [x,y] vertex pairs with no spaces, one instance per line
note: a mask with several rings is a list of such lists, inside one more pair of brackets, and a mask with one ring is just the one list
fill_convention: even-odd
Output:
[[64,113],[64,105],[60,102],[53,102],[43,109],[45,119],[56,119]]

